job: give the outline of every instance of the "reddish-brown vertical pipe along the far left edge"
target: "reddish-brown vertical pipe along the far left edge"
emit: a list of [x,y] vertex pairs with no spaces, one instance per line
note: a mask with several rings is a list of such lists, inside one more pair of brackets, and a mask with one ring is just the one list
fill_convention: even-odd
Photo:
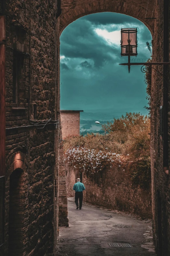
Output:
[[5,16],[0,16],[0,176],[5,176]]

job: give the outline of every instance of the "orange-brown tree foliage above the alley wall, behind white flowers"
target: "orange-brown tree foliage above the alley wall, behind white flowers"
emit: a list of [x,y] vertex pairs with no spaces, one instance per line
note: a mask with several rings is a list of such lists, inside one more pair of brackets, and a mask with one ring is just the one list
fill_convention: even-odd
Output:
[[[120,164],[125,169],[126,175],[132,179],[133,184],[148,188],[151,181],[150,118],[140,113],[126,113],[125,116],[114,119],[113,123],[108,122],[108,132],[109,133],[106,135],[94,135],[91,133],[87,134],[85,137],[70,136],[64,141],[64,150],[65,152],[67,151],[67,153],[71,150],[69,154],[72,154],[72,150],[77,147],[79,149],[81,148],[81,150],[85,148],[85,150],[89,150],[89,152],[94,150],[95,154],[92,154],[94,156],[91,157],[90,160],[93,165],[89,162],[85,163],[90,173],[92,173],[92,171],[90,171],[89,168],[95,166],[94,161],[97,160],[97,154],[107,154],[107,161],[104,162],[105,166],[109,164],[110,154],[121,154]],[[72,164],[77,167],[80,167],[79,162],[81,162],[80,159],[82,159],[84,155],[84,153],[81,152],[82,155],[80,154],[79,156],[79,151],[78,149],[75,150],[76,154],[72,154],[71,157],[72,161],[74,161]],[[87,160],[88,158],[86,157],[85,159]],[[76,163],[76,161],[78,162]],[[114,164],[113,162],[111,162],[111,165]],[[104,166],[100,163],[97,165],[97,169],[101,169],[99,165],[102,165],[102,168]],[[84,170],[86,168],[85,166]],[[93,169],[95,170],[96,168]]]

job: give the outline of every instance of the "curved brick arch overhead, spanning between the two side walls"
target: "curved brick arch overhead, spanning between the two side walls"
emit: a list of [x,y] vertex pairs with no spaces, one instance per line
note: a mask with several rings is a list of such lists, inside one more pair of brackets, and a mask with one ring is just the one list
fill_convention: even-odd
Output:
[[61,1],[62,13],[59,17],[60,34],[73,21],[88,14],[97,12],[117,12],[132,16],[145,24],[150,30],[152,37],[154,34],[154,19],[145,19],[152,16],[153,5],[148,5],[148,0],[69,0],[67,3]]

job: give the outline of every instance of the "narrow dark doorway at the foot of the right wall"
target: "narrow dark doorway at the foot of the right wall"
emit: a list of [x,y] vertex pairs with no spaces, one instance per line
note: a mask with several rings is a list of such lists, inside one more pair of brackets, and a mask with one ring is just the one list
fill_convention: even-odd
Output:
[[158,247],[157,254],[162,256],[162,202],[159,190],[157,191],[157,211],[158,211]]

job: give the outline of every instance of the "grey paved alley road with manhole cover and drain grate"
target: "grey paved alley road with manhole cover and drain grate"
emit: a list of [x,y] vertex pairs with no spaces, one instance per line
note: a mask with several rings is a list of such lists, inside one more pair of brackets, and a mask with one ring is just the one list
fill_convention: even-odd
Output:
[[[143,234],[150,229],[149,223],[85,204],[76,210],[72,198],[68,211],[69,228],[59,228],[59,256],[155,256],[149,248],[141,247],[146,243]],[[129,227],[113,227],[115,224]],[[152,239],[149,242],[150,247]],[[109,243],[128,243],[131,248],[110,247]]]

